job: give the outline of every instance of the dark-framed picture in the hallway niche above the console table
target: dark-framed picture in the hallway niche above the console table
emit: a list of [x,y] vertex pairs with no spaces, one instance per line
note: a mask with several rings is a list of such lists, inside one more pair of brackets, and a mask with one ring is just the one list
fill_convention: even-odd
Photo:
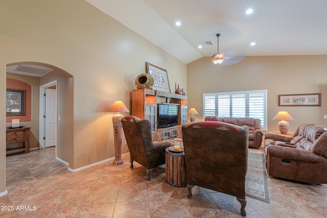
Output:
[[25,115],[25,90],[7,89],[6,114]]

